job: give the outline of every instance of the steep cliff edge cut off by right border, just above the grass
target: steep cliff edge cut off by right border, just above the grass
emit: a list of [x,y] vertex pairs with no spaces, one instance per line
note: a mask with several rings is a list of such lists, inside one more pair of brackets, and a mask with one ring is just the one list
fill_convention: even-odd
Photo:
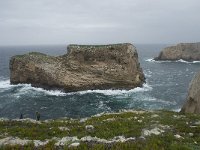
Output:
[[195,75],[190,83],[187,101],[181,112],[200,114],[200,72]]

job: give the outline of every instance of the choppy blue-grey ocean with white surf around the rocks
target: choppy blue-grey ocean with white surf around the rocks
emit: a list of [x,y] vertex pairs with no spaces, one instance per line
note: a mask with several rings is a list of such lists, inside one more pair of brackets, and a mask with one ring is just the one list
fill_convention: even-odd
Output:
[[58,56],[67,52],[66,45],[1,46],[0,47],[0,118],[62,117],[84,118],[103,112],[122,109],[179,111],[184,104],[189,83],[200,70],[200,62],[155,62],[166,44],[135,44],[146,83],[141,88],[126,90],[88,90],[73,93],[48,91],[29,84],[10,85],[9,60],[11,56],[30,51]]

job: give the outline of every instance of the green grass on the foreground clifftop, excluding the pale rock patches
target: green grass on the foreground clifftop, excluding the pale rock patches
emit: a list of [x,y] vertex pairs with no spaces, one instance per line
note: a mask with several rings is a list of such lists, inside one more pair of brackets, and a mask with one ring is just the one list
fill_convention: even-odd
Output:
[[[12,136],[29,140],[45,140],[53,137],[77,136],[79,139],[85,136],[98,137],[101,139],[112,139],[116,136],[126,138],[135,137],[136,140],[125,143],[80,143],[77,149],[200,149],[200,125],[194,125],[200,121],[200,115],[186,114],[182,115],[177,112],[155,111],[155,112],[123,112],[115,114],[104,114],[99,117],[88,118],[85,122],[78,119],[57,119],[48,122],[42,121],[41,124],[35,124],[28,121],[0,121],[0,138]],[[93,125],[94,130],[87,131],[86,125]],[[144,129],[168,128],[160,135],[151,135],[140,138]],[[59,127],[67,127],[69,130],[61,131]],[[191,136],[191,133],[193,136]],[[180,135],[176,138],[174,135]],[[54,149],[54,143],[50,141],[42,148]],[[28,144],[26,147],[34,147]],[[10,148],[9,145],[1,147]],[[22,146],[16,145],[15,149]],[[69,149],[68,146],[63,149]]]

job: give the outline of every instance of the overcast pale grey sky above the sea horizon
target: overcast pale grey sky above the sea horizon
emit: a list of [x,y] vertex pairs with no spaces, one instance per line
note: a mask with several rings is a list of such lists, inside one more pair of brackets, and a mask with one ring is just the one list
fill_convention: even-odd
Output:
[[200,42],[200,0],[0,0],[0,45]]

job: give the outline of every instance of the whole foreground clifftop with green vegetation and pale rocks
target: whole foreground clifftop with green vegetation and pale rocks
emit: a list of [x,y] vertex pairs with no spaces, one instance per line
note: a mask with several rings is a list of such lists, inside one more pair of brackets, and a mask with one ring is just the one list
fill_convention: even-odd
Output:
[[1,120],[0,131],[3,149],[200,149],[200,115],[169,111]]

